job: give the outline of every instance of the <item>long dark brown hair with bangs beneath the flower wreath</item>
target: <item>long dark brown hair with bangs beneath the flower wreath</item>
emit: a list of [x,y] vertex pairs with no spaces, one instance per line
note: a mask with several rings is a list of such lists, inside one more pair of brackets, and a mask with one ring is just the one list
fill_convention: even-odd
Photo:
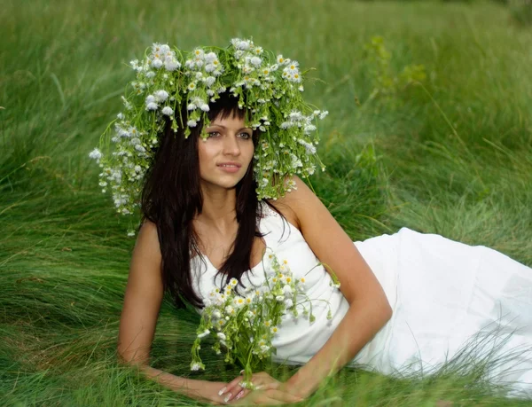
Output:
[[[234,114],[244,119],[247,112],[238,107],[238,98],[229,92],[220,95],[215,103],[209,104],[209,120],[216,117],[224,119]],[[180,106],[181,117],[186,123],[185,103]],[[198,255],[199,237],[192,227],[192,219],[201,214],[203,196],[200,189],[200,162],[198,140],[203,123],[198,122],[188,138],[184,138],[184,128],[176,112],[178,129],[171,129],[168,121],[160,135],[160,144],[155,152],[153,163],[145,175],[145,184],[141,196],[142,223],[149,220],[157,225],[160,252],[162,255],[161,275],[165,292],[170,294],[176,308],[185,308],[184,301],[193,307],[203,308],[204,304],[192,286],[191,259]],[[259,141],[260,133],[254,130],[253,143]],[[258,230],[258,219],[262,217],[262,207],[258,204],[256,182],[251,161],[239,184],[236,185],[236,214],[239,228],[233,243],[233,250],[218,273],[226,275],[226,283],[231,278],[240,278],[246,270],[252,268],[251,250],[254,238],[262,238]],[[268,205],[269,202],[266,201]],[[272,207],[276,212],[277,208]],[[279,213],[279,212],[278,212]],[[282,214],[279,213],[282,216]],[[283,216],[284,218],[284,216]],[[202,259],[204,261],[204,259]]]

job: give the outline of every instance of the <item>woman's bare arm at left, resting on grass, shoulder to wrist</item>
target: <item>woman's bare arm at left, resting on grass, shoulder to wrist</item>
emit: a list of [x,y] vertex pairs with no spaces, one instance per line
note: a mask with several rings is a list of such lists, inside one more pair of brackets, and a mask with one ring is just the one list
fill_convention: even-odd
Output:
[[222,382],[192,380],[154,369],[150,364],[155,326],[163,297],[161,254],[157,227],[146,221],[133,250],[118,333],[121,362],[137,366],[161,385],[194,398],[222,403],[217,394]]

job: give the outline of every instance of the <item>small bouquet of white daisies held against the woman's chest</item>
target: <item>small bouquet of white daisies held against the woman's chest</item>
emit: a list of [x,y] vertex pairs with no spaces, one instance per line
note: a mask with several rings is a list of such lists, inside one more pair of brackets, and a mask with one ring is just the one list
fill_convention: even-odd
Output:
[[[234,293],[238,280],[231,278],[223,289],[215,288],[208,295],[192,346],[192,371],[205,369],[200,358],[200,342],[203,338],[212,336],[215,338],[213,349],[216,354],[220,355],[224,349],[225,362],[237,362],[244,368],[241,386],[254,388],[251,382],[253,372],[276,354],[272,340],[279,329],[282,329],[278,326],[281,317],[287,313],[298,317],[296,306],[301,305],[303,315],[309,316],[309,322],[315,321],[312,303],[305,294],[305,278],[293,278],[288,262],[279,262],[275,254],[269,254],[269,259],[271,269],[270,272],[264,271],[263,286],[255,288],[246,296],[240,296]],[[318,263],[318,266],[321,264]],[[340,288],[334,274],[331,285]],[[306,302],[309,302],[309,308],[305,307]],[[332,319],[330,305],[327,319]]]

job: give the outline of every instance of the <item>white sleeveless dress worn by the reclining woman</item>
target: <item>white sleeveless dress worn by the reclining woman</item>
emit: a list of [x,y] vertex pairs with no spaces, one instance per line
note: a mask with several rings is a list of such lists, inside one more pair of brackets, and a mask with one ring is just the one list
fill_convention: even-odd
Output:
[[[301,232],[266,204],[259,229],[268,250],[286,259],[295,278],[305,277],[314,323],[283,317],[272,345],[274,361],[305,364],[323,347],[348,311],[340,290]],[[283,229],[285,231],[283,233]],[[354,242],[383,286],[393,317],[348,364],[384,374],[435,372],[465,350],[476,360],[491,352],[489,379],[513,383],[511,395],[532,395],[532,269],[489,247],[468,246],[434,234],[403,228]],[[222,276],[204,256],[192,259],[193,286],[202,299]],[[242,282],[262,285],[268,256]],[[309,271],[310,270],[310,271]],[[325,304],[326,300],[329,304]],[[332,310],[332,320],[326,318]],[[302,308],[300,309],[302,311]],[[353,327],[356,330],[356,327]],[[495,363],[503,357],[502,362]]]

